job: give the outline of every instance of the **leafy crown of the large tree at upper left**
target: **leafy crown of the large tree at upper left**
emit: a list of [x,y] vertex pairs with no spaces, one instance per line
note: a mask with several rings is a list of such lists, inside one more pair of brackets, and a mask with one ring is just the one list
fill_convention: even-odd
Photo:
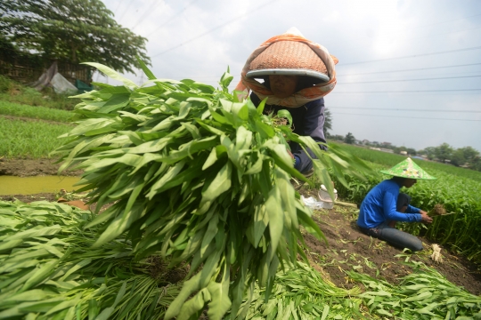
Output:
[[0,2],[0,30],[23,52],[46,59],[99,62],[119,72],[146,64],[147,39],[122,28],[100,0]]

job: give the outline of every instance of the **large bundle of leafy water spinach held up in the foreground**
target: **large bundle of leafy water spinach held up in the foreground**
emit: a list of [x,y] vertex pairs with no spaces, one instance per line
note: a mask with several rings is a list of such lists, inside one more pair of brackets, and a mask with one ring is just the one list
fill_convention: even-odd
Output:
[[[289,182],[313,183],[294,169],[287,140],[314,151],[315,175],[330,192],[328,170],[341,181],[368,170],[341,149],[324,152],[289,124],[273,124],[264,103],[236,100],[228,72],[215,89],[160,80],[144,67],[150,83],[139,87],[89,64],[124,85],[77,96],[77,127],[57,150],[61,170],[84,170],[78,191],[91,190],[97,210],[112,204],[87,226],[108,222],[94,247],[128,232],[139,259],[159,252],[170,266],[190,263],[166,319],[198,316],[206,305],[210,319],[229,308],[240,315],[256,281],[268,296],[280,264],[303,254],[299,225],[323,238]],[[277,117],[292,121],[288,111]]]

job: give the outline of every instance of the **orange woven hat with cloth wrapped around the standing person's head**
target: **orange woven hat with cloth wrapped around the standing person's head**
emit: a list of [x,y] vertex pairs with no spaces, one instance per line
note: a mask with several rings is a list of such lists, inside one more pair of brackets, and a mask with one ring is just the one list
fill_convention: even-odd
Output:
[[[240,100],[246,99],[252,91],[261,100],[267,98],[267,104],[298,108],[334,89],[336,63],[338,59],[326,48],[306,39],[297,28],[290,28],[286,33],[266,40],[250,54],[235,91]],[[270,75],[309,76],[319,81],[287,98],[279,98],[256,80],[256,77]]]

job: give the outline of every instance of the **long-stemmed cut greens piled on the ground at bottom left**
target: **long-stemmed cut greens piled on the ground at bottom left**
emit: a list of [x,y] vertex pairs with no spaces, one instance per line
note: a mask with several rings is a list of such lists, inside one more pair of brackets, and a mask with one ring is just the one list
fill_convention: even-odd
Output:
[[[0,202],[0,319],[160,318],[179,289],[117,238],[92,249],[94,214]],[[165,268],[164,268],[165,270]]]

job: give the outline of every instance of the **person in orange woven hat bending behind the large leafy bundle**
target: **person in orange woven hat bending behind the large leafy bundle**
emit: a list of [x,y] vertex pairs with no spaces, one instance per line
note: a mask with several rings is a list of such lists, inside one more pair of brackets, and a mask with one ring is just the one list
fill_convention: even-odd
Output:
[[[325,143],[324,99],[336,85],[334,65],[338,60],[326,48],[307,40],[297,28],[273,36],[249,56],[236,91],[258,106],[267,98],[264,112],[276,114],[289,110],[293,132]],[[305,175],[312,173],[310,157],[295,142],[289,143],[294,167]],[[322,146],[321,148],[325,148]]]

